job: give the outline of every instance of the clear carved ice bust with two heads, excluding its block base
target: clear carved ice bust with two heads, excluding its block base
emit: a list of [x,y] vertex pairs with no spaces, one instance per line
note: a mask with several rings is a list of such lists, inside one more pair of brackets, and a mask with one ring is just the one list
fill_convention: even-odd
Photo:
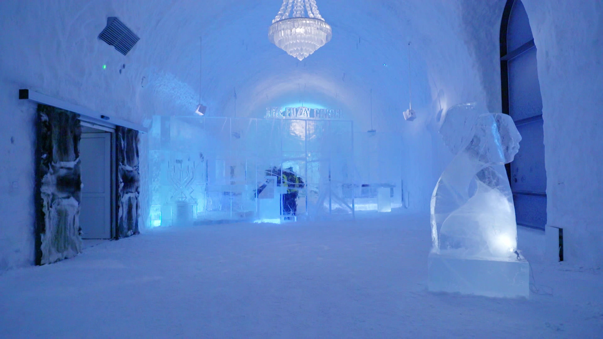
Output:
[[475,104],[459,104],[446,111],[440,134],[456,155],[432,194],[432,251],[513,256],[517,224],[504,168],[521,141],[513,119],[502,113],[480,114]]

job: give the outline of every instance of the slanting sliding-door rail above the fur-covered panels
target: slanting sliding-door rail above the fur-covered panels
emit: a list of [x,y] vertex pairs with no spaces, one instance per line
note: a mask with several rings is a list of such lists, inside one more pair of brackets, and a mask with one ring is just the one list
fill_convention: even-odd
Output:
[[76,104],[68,103],[57,98],[49,97],[48,95],[34,92],[29,89],[19,89],[20,100],[31,100],[34,103],[45,104],[48,106],[57,107],[59,109],[68,110],[80,115],[80,119],[83,121],[91,122],[96,125],[101,125],[109,128],[115,128],[115,126],[123,126],[131,128],[133,130],[140,131],[142,133],[148,133],[148,128],[142,125],[134,124],[133,122],[111,118],[107,115],[102,115],[93,110],[87,109],[86,107],[79,106]]

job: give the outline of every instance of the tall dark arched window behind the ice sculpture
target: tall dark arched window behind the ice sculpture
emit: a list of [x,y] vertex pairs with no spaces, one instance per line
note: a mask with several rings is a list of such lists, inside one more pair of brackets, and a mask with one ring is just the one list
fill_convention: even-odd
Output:
[[546,170],[542,97],[536,46],[528,13],[520,0],[508,0],[500,27],[502,109],[522,135],[519,153],[507,165],[517,224],[545,229]]

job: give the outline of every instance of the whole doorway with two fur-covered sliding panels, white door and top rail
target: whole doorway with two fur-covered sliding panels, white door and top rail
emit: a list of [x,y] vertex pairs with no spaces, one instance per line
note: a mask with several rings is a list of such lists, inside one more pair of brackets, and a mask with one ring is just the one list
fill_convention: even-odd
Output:
[[89,239],[138,234],[138,144],[147,128],[118,119],[109,124],[106,116],[29,90],[19,90],[19,98],[38,104],[36,265],[73,258]]

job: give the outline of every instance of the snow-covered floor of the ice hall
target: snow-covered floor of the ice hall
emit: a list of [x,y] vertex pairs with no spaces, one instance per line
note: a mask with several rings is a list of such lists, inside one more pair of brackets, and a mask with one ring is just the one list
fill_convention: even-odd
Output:
[[429,293],[425,217],[155,230],[2,274],[0,337],[603,337],[601,271],[519,237],[552,296]]

